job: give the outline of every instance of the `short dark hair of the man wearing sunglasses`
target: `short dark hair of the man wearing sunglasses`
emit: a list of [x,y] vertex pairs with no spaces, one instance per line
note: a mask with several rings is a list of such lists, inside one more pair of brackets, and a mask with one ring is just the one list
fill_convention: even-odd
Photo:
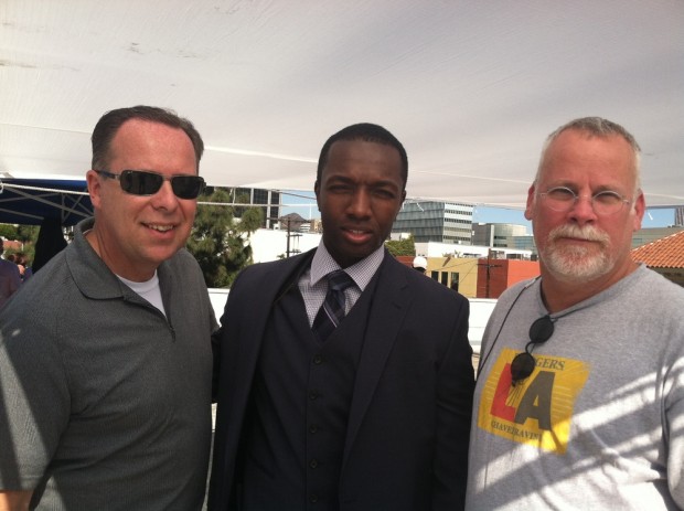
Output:
[[185,131],[185,135],[190,138],[192,147],[195,150],[196,168],[200,168],[200,159],[204,152],[204,142],[192,123],[179,117],[175,111],[167,108],[138,105],[129,108],[109,110],[99,118],[93,130],[93,136],[90,137],[90,141],[93,142],[93,161],[90,164],[93,169],[106,169],[109,166],[111,140],[121,125],[131,119],[158,123]]

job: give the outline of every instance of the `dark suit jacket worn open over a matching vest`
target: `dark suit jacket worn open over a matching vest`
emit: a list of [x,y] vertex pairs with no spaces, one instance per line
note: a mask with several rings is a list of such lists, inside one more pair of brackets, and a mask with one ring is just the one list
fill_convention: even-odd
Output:
[[[214,338],[220,366],[211,510],[234,510],[236,456],[272,302],[313,251],[246,268]],[[340,509],[455,511],[463,507],[474,375],[469,302],[398,263],[378,268],[356,372]]]

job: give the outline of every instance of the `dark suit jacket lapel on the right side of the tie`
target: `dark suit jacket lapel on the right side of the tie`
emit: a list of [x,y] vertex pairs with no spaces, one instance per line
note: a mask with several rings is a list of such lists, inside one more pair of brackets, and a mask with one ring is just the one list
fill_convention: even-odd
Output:
[[342,467],[346,464],[351,446],[397,339],[402,319],[412,301],[408,283],[397,265],[400,263],[386,252],[378,268],[375,295],[368,312],[368,323],[356,371]]

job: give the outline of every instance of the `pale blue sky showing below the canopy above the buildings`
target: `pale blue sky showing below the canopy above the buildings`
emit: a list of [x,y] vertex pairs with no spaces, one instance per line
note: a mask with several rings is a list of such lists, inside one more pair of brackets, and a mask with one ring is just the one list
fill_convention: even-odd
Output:
[[[320,214],[316,206],[313,192],[287,191],[282,193],[281,215],[288,213],[298,213],[302,217],[319,219]],[[527,233],[532,234],[532,223],[525,220],[522,210],[511,210],[505,207],[475,206],[472,221],[474,223],[505,223],[525,225]],[[667,209],[649,209],[641,222],[642,228],[649,227],[667,227],[674,224],[674,210]]]

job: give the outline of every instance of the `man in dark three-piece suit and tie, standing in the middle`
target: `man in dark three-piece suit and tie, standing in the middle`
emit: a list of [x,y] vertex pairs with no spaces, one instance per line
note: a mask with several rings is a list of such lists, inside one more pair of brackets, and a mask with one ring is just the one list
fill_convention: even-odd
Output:
[[214,339],[210,509],[462,509],[469,305],[384,248],[407,175],[389,131],[342,129],[319,159],[319,247],[235,280]]

